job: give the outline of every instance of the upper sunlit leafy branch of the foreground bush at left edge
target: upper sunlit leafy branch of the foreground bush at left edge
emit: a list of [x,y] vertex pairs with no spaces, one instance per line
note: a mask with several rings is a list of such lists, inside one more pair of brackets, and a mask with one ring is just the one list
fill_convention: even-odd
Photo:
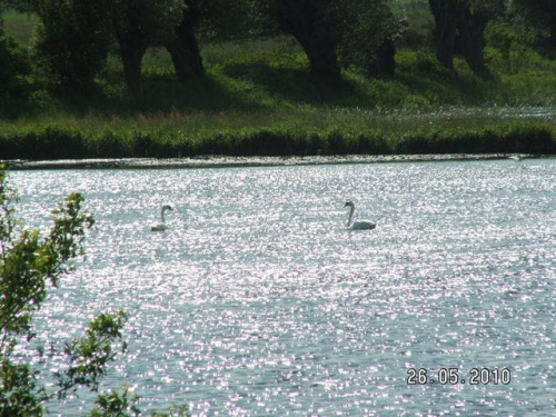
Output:
[[[4,178],[1,180],[3,187]],[[64,206],[52,211],[54,225],[47,238],[41,239],[38,230],[22,230],[13,238],[13,197],[1,192],[0,330],[21,335],[29,330],[32,314],[47,297],[47,280],[56,286],[59,277],[71,270],[68,262],[82,255],[85,229],[95,220],[80,212],[83,197],[72,193]]]

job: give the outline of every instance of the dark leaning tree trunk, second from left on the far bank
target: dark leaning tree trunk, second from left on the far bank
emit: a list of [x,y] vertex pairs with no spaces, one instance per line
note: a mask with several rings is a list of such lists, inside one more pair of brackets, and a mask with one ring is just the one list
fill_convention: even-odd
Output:
[[195,37],[195,24],[198,20],[197,2],[191,2],[183,11],[181,23],[176,28],[176,39],[166,44],[172,59],[173,69],[178,80],[202,77],[202,58]]

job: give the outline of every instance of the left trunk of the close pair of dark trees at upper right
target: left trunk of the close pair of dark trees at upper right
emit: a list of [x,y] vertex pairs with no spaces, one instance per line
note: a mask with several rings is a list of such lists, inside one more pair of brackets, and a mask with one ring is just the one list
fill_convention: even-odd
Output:
[[456,38],[459,7],[446,0],[429,0],[430,11],[435,18],[436,58],[443,67],[454,68],[454,40]]

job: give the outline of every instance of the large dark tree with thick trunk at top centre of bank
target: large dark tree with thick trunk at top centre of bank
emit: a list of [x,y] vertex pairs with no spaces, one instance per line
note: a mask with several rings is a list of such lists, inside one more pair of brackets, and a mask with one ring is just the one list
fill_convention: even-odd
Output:
[[262,24],[296,38],[315,79],[340,83],[339,58],[368,75],[394,73],[395,39],[401,24],[386,0],[259,0],[256,4]]

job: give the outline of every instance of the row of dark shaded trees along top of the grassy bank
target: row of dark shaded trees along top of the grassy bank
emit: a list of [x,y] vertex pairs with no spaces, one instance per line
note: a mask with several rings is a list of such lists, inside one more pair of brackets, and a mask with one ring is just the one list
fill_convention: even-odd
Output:
[[[486,73],[486,28],[509,14],[536,28],[554,51],[555,4],[550,0],[428,0],[438,62],[451,69],[454,58],[461,54],[474,71]],[[111,51],[121,58],[129,91],[138,93],[148,48],[166,47],[178,80],[188,80],[205,73],[200,40],[278,32],[297,40],[319,82],[340,82],[341,68],[348,66],[370,77],[391,75],[397,39],[405,28],[389,0],[1,0],[0,12],[6,8],[39,16],[34,68],[51,83],[85,96]],[[7,72],[19,71],[19,64],[12,64],[17,53],[11,43],[1,42],[6,69],[0,70],[0,78],[13,86]]]

